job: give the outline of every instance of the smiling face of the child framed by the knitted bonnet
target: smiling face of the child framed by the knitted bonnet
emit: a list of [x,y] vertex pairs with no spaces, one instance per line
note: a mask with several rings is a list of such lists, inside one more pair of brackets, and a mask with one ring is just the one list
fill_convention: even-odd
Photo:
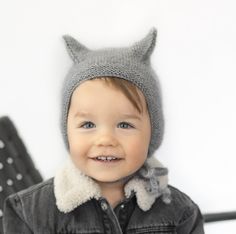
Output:
[[[144,96],[139,93],[145,107]],[[68,114],[68,141],[73,162],[86,175],[98,182],[131,175],[146,160],[150,137],[148,111],[144,108],[140,114],[121,91],[99,79],[85,81],[74,91]],[[96,159],[98,156],[118,159],[101,161]]]

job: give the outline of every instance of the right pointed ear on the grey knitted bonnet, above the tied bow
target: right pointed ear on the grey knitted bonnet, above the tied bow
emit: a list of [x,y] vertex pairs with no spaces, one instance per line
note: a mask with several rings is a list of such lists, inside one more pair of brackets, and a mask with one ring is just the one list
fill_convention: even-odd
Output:
[[131,46],[133,55],[139,57],[141,61],[148,61],[155,47],[156,37],[157,30],[153,27],[142,40]]

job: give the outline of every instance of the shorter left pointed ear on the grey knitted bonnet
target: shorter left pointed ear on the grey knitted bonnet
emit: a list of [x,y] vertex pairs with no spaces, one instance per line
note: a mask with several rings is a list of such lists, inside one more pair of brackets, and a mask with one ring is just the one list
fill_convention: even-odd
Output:
[[63,39],[66,42],[66,48],[72,60],[75,63],[81,62],[88,53],[89,49],[70,35],[63,35]]

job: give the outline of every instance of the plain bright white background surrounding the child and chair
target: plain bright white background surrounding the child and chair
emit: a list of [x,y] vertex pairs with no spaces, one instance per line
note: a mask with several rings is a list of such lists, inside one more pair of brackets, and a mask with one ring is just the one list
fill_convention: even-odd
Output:
[[[0,1],[0,116],[52,177],[68,157],[59,94],[72,61],[62,35],[97,49],[131,45],[155,26],[166,120],[155,155],[203,213],[236,210],[235,11],[234,0]],[[236,221],[205,229],[233,234]]]

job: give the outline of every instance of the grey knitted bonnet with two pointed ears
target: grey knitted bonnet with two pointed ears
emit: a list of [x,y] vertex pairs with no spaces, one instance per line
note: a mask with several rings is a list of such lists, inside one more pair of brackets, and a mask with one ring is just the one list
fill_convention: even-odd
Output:
[[69,35],[64,35],[73,66],[62,87],[61,130],[67,149],[67,115],[73,91],[85,80],[117,77],[136,85],[144,94],[151,120],[151,141],[148,157],[160,146],[164,133],[161,88],[151,67],[150,56],[156,43],[156,28],[129,47],[91,50]]

